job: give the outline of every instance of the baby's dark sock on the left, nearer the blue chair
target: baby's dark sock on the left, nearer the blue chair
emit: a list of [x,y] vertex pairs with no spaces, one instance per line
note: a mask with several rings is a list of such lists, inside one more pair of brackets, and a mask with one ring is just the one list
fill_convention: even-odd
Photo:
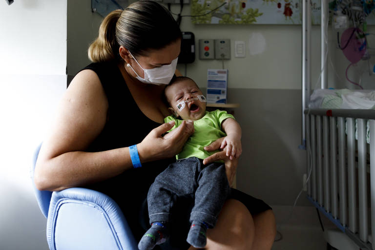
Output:
[[140,250],[153,249],[155,245],[163,244],[169,238],[165,222],[154,222],[151,228],[146,231],[138,244]]

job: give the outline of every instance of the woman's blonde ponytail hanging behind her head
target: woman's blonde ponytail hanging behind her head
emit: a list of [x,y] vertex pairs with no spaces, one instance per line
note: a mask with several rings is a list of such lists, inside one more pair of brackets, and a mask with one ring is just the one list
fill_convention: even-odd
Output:
[[122,10],[109,13],[99,28],[99,36],[88,48],[88,58],[91,62],[107,62],[116,59],[119,45],[116,41],[116,23]]

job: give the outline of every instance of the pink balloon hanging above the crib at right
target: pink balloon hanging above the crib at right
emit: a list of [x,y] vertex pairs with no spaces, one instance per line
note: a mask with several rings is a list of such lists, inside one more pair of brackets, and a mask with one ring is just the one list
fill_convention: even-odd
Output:
[[364,34],[358,28],[348,28],[341,36],[342,52],[352,63],[359,62],[366,52],[366,40],[365,38],[359,38],[359,36],[364,36]]

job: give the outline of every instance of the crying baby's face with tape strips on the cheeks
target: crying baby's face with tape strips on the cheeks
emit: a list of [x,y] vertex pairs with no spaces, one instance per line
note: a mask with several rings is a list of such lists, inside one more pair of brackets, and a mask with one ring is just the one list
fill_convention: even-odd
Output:
[[[191,80],[173,83],[173,85],[168,86],[166,90],[168,103],[183,120],[196,121],[205,115],[206,103],[199,100],[188,101],[198,95],[202,95],[202,91],[197,84]],[[182,110],[178,110],[177,105],[183,101],[187,101],[185,107]]]

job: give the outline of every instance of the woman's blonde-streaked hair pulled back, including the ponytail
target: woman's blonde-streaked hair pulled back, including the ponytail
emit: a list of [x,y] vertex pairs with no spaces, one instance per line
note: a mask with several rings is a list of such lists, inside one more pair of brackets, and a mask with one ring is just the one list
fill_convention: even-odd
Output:
[[121,45],[133,56],[144,56],[180,38],[180,27],[167,8],[154,0],[140,0],[104,18],[98,38],[88,48],[88,58],[91,62],[121,60]]

